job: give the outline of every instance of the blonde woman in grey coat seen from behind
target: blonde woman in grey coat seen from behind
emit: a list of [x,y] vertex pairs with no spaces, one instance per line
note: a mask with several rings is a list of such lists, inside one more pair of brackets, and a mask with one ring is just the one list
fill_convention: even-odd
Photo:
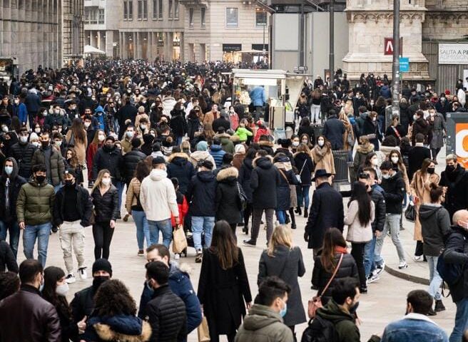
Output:
[[257,284],[268,281],[270,276],[278,276],[290,286],[288,293],[288,311],[283,316],[283,322],[295,334],[295,325],[304,323],[305,311],[302,306],[302,296],[297,277],[305,274],[302,252],[292,243],[291,230],[284,225],[275,228],[268,244],[260,256],[258,264]]

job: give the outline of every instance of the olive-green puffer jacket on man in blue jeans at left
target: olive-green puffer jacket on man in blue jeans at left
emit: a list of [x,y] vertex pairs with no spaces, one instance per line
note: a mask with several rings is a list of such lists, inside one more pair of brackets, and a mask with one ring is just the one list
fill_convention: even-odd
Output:
[[54,207],[54,187],[46,181],[39,185],[36,180],[29,180],[19,190],[16,201],[18,222],[29,226],[36,226],[52,222],[52,208]]

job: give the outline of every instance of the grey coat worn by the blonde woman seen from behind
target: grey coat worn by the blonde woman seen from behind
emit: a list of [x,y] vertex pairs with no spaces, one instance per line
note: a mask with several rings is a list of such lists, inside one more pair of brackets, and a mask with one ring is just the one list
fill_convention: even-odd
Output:
[[258,264],[258,281],[260,283],[267,276],[278,276],[291,286],[291,293],[288,296],[288,311],[283,317],[287,326],[295,326],[304,323],[305,311],[302,306],[302,296],[297,282],[298,276],[305,274],[302,252],[299,247],[289,249],[285,246],[278,246],[275,249],[275,256],[269,257],[268,251],[263,251]]

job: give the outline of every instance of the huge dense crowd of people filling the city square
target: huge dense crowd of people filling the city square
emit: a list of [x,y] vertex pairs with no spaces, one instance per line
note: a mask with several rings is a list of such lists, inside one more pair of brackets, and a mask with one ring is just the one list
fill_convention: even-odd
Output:
[[[430,285],[410,292],[405,318],[370,341],[467,338],[468,172],[456,155],[435,172],[446,114],[466,111],[462,82],[455,95],[404,82],[400,115],[388,115],[387,76],[362,75],[354,87],[340,70],[332,82],[307,79],[297,134],[275,141],[265,90],[255,87],[242,105],[230,67],[86,61],[39,67],[0,88],[0,271],[8,269],[0,341],[185,341],[203,316],[210,341],[296,341],[295,326],[307,321],[297,282],[305,263],[291,230],[302,228],[298,216],[307,218],[311,285],[323,305],[302,341],[360,341],[357,306],[385,269],[387,235],[398,267],[408,267],[399,238],[407,204],[416,213],[414,260],[427,261]],[[350,194],[334,182],[342,152]],[[148,261],[138,306],[108,261],[116,225],[129,217],[136,255]],[[68,304],[68,284],[88,277],[89,226],[93,284]],[[238,227],[250,237],[238,241]],[[179,229],[201,263],[196,294],[176,261],[186,249],[169,252]],[[55,233],[65,270],[46,266]],[[267,247],[255,298],[240,244]],[[457,306],[450,339],[427,318],[445,310],[442,281]]]

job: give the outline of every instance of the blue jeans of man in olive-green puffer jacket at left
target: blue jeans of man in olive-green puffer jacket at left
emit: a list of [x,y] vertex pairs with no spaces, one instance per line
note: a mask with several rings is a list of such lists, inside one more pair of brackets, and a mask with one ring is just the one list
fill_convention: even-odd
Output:
[[34,259],[34,244],[37,239],[38,260],[42,267],[46,266],[47,247],[49,246],[49,235],[51,234],[51,223],[26,225],[23,232],[24,256],[26,259]]

